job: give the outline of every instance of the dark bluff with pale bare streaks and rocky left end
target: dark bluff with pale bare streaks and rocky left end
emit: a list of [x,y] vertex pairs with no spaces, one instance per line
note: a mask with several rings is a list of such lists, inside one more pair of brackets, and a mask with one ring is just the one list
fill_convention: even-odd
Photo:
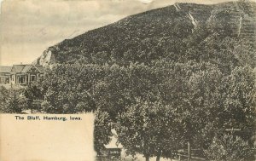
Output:
[[191,50],[201,49],[213,37],[218,39],[216,42],[234,38],[253,44],[255,10],[255,3],[176,3],[66,39],[46,49],[34,63],[125,66],[129,62],[148,64],[159,59],[201,60],[201,55],[196,57]]

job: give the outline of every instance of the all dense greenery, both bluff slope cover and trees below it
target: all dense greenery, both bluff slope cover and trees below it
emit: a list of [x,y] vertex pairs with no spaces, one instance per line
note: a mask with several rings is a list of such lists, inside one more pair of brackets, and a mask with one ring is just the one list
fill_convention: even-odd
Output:
[[[56,63],[27,86],[26,104],[41,99],[44,112],[96,112],[96,152],[115,123],[127,152],[146,159],[168,158],[187,141],[211,159],[240,159],[255,128],[256,49],[236,30],[241,15],[244,25],[253,22],[251,7],[236,4],[154,9],[50,47]],[[5,90],[0,98],[9,102]],[[230,128],[241,132],[221,137]]]

